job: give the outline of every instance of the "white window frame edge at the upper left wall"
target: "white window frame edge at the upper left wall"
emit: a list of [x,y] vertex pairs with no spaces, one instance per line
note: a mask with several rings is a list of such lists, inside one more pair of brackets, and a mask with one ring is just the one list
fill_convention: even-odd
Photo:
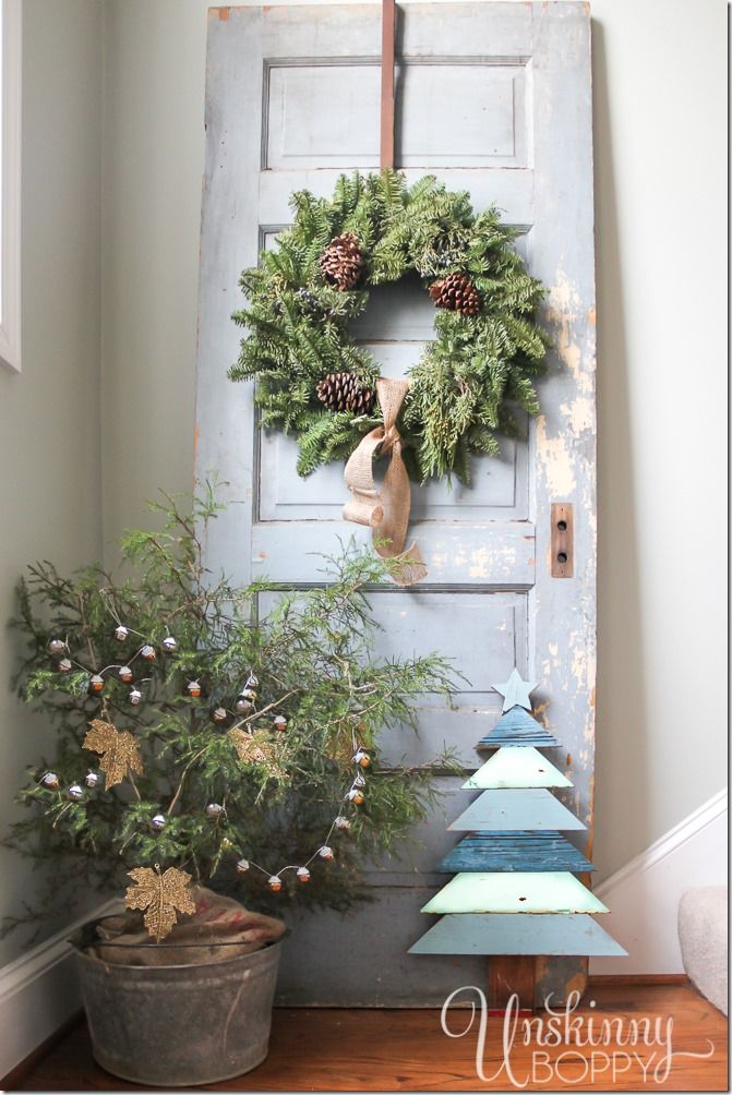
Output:
[[0,362],[20,372],[22,0],[0,3]]

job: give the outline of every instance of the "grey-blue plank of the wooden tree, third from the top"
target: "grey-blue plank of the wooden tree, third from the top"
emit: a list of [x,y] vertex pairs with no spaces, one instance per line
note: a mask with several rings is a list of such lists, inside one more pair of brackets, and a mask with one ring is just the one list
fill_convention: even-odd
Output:
[[544,787],[484,791],[453,821],[453,832],[478,829],[584,829],[585,826]]

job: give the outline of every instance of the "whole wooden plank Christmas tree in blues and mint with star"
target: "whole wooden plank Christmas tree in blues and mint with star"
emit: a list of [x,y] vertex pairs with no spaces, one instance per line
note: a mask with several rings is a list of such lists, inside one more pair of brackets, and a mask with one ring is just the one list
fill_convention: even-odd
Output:
[[422,909],[442,919],[410,948],[490,955],[496,1010],[514,992],[533,1008],[538,956],[626,954],[593,920],[609,910],[574,877],[594,867],[563,832],[586,827],[551,793],[572,783],[539,752],[559,742],[528,713],[535,687],[515,669],[493,685],[503,714],[477,748],[497,751],[462,784],[481,794],[449,826],[468,835],[437,866],[457,874]]

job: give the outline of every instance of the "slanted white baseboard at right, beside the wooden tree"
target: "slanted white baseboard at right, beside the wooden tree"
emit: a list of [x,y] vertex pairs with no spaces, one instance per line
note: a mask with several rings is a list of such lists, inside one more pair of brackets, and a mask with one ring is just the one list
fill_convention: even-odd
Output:
[[596,895],[603,927],[627,958],[591,958],[591,973],[683,973],[677,915],[682,894],[727,886],[727,788],[607,878]]

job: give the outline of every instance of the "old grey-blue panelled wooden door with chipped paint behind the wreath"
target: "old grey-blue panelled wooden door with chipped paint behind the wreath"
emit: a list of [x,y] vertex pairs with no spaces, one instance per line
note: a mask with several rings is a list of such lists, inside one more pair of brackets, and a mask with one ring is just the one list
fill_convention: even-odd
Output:
[[[441,650],[470,685],[454,710],[425,701],[421,737],[388,753],[422,762],[444,741],[466,769],[496,719],[491,683],[517,666],[539,681],[538,704],[574,783],[565,797],[591,825],[595,682],[594,267],[590,15],[584,3],[407,3],[397,39],[396,165],[433,172],[473,206],[496,203],[521,226],[519,246],[549,287],[544,322],[556,341],[540,384],[544,412],[500,460],[473,466],[470,489],[413,491],[413,532],[428,576],[373,597],[382,653]],[[240,581],[321,580],[318,552],[363,530],[341,520],[342,468],[307,482],[295,448],[260,436],[251,385],[226,379],[239,332],[237,281],[288,223],[288,197],[330,195],[336,175],[378,166],[380,5],[214,9],[208,34],[203,206],[197,474],[228,481],[208,563]],[[431,337],[433,308],[415,285],[374,292],[358,335],[387,374],[402,373]],[[551,505],[574,507],[572,577],[551,576]],[[567,569],[567,567],[565,567]],[[459,781],[444,780],[457,787]],[[297,923],[281,999],[297,1003],[435,1005],[484,981],[484,961],[408,956],[426,927],[420,908],[455,843],[446,825],[466,806],[448,796],[405,849],[375,865],[377,897],[353,917]],[[574,967],[556,964],[559,983]]]

